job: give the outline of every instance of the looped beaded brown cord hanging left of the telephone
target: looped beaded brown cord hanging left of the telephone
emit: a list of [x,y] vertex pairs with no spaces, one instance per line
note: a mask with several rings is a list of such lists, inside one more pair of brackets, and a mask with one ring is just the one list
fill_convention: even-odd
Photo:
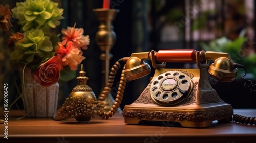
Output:
[[[108,95],[111,91],[111,88],[113,86],[117,70],[121,67],[120,63],[119,63],[120,61],[122,61],[122,59],[118,60],[112,66],[111,71],[110,71],[110,75],[109,75],[108,84],[106,84],[106,87],[104,87],[102,93],[100,94],[99,101],[104,101],[105,98],[108,97]],[[125,66],[122,69],[122,73],[121,73],[121,77],[120,77],[120,81],[119,81],[119,85],[118,85],[118,91],[117,91],[115,102],[114,102],[112,108],[108,112],[102,112],[99,115],[101,118],[108,119],[108,118],[112,117],[116,113],[118,108],[120,107],[121,101],[123,99],[123,93],[124,93],[124,90],[125,90],[126,82],[127,82],[127,79],[124,77],[124,70],[125,70]]]

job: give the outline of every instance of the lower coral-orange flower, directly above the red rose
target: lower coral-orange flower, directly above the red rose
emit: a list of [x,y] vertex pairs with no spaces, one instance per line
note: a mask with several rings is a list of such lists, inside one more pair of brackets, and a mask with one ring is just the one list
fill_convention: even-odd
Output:
[[55,53],[61,58],[61,60],[59,60],[61,69],[63,69],[63,66],[68,65],[71,70],[77,70],[78,64],[85,59],[85,57],[82,56],[83,52],[74,47],[71,41],[67,43],[66,48],[61,42],[59,42],[58,45],[59,46],[55,47]]

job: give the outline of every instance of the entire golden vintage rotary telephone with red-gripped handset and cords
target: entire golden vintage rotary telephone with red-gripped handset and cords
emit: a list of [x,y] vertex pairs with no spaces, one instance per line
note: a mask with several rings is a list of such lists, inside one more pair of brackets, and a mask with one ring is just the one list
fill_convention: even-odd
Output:
[[[122,70],[115,103],[109,112],[102,112],[100,117],[109,118],[116,113],[123,99],[127,80],[150,74],[151,68],[145,60],[151,60],[155,74],[138,99],[124,106],[125,123],[138,124],[142,120],[170,121],[179,122],[183,127],[200,128],[211,126],[214,120],[231,121],[232,116],[234,121],[256,123],[255,118],[233,115],[232,106],[218,96],[207,77],[209,73],[219,81],[233,81],[237,77],[237,68],[244,66],[235,63],[228,53],[199,52],[193,49],[133,53],[130,57],[117,61],[111,68],[109,83],[99,97],[99,101],[103,101],[108,96],[120,68],[119,62],[124,61],[126,64]],[[214,60],[214,63],[210,64],[210,60]],[[166,62],[196,62],[198,68],[167,69]],[[242,80],[245,87],[255,91],[256,85],[252,85],[244,76]]]

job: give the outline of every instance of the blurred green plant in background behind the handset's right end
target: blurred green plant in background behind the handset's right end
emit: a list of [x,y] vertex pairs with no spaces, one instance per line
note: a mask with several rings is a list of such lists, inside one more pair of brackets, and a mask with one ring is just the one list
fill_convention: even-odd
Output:
[[[248,78],[256,78],[256,53],[252,45],[253,42],[244,36],[245,32],[246,31],[243,30],[234,40],[221,37],[210,41],[208,44],[200,42],[199,45],[202,50],[205,51],[228,53],[234,62],[246,67],[247,73],[250,75]],[[238,77],[242,74],[243,73],[239,70]]]

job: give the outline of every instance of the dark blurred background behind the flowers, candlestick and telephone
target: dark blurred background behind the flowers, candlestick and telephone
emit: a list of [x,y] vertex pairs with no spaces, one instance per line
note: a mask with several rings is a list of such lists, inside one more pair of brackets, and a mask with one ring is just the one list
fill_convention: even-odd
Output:
[[[85,35],[90,36],[90,45],[83,51],[86,59],[82,61],[87,84],[98,97],[101,91],[101,51],[95,43],[98,30],[98,20],[93,9],[102,8],[101,0],[72,0],[60,1],[59,7],[64,9],[61,25],[54,31],[60,33],[62,28],[73,26],[84,28]],[[19,1],[0,0],[0,3],[15,7]],[[196,49],[228,52],[232,59],[247,68],[248,79],[256,82],[256,54],[255,54],[255,2],[253,0],[111,0],[110,8],[119,9],[113,21],[116,32],[116,43],[111,49],[113,55],[110,60],[112,66],[118,59],[129,57],[134,52],[144,52],[160,49]],[[17,26],[18,27],[18,26]],[[0,31],[0,92],[3,93],[4,83],[9,87],[14,83],[15,71],[10,69],[8,48],[4,44],[5,32]],[[121,64],[122,66],[124,63]],[[195,68],[194,63],[168,63],[168,68]],[[241,69],[242,70],[242,69]],[[79,69],[77,71],[79,73]],[[121,104],[123,108],[135,101],[153,76],[154,69],[149,76],[135,81],[129,81],[126,86]],[[232,82],[219,82],[210,79],[219,96],[230,103],[233,108],[256,108],[256,93],[244,88],[239,71],[238,78]],[[111,90],[115,97],[120,72]],[[16,82],[19,82],[18,80]],[[69,96],[72,88],[77,85],[76,79],[69,82],[59,81],[59,104]],[[10,88],[9,105],[16,98],[15,88]],[[3,96],[0,98],[3,107]],[[21,101],[17,102],[22,106]],[[16,107],[13,106],[15,109]]]

